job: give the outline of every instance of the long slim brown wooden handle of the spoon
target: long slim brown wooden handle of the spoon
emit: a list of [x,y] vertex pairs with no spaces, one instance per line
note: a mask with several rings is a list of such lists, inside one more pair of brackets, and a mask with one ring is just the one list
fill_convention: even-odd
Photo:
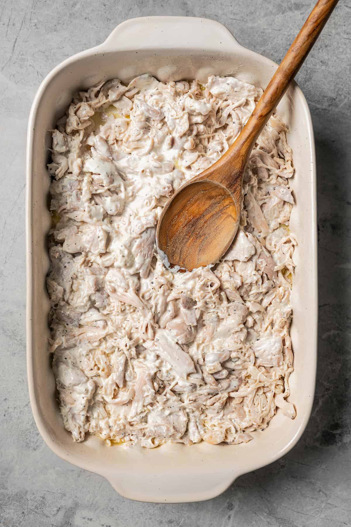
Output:
[[226,152],[227,159],[240,155],[243,161],[246,161],[256,139],[282,99],[290,81],[294,79],[302,66],[337,3],[338,0],[318,0],[260,97],[242,132]]

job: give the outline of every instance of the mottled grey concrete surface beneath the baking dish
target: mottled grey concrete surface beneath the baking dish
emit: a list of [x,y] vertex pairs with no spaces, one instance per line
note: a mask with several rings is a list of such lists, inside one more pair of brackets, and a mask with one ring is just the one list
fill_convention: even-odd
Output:
[[[0,2],[0,525],[2,527],[329,527],[351,525],[350,269],[351,2],[340,0],[298,75],[318,161],[319,363],[313,415],[282,460],[203,503],[128,501],[44,444],[25,365],[24,194],[29,108],[64,58],[102,42],[126,18],[190,15],[224,23],[243,45],[279,62],[313,0],[2,0]],[[308,350],[306,350],[308,353]]]

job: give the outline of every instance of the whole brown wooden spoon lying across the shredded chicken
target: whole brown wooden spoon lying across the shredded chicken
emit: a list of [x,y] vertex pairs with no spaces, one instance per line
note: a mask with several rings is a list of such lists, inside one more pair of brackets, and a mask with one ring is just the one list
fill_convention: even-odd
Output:
[[337,2],[317,2],[232,146],[166,203],[158,220],[156,244],[167,267],[191,271],[214,264],[228,250],[239,225],[250,152]]

